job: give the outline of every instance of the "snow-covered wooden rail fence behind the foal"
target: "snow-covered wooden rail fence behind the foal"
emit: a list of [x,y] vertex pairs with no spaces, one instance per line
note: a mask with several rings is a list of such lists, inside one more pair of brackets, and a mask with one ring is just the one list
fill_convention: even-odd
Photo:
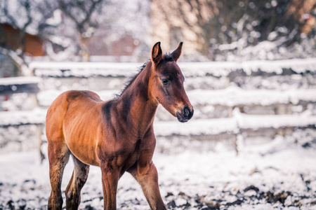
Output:
[[[46,111],[58,94],[68,89],[94,89],[101,99],[111,99],[126,78],[137,72],[137,66],[140,64],[34,62],[30,64],[34,77],[0,79],[2,101],[25,92],[36,104],[30,110],[1,111],[0,127],[37,125],[41,146]],[[185,88],[195,106],[195,116],[181,124],[160,107],[154,122],[157,137],[214,139],[224,135],[231,137],[236,146],[238,136],[260,136],[265,130],[287,134],[298,128],[315,128],[316,59],[179,66],[187,78]]]

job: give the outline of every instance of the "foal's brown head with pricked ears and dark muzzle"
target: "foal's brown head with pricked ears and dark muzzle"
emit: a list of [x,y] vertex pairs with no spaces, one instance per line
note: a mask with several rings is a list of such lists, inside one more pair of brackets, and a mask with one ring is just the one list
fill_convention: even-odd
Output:
[[185,93],[185,80],[178,64],[181,55],[182,42],[169,55],[162,54],[160,42],[152,48],[152,75],[149,91],[153,99],[162,104],[181,123],[187,122],[193,116],[193,106]]

